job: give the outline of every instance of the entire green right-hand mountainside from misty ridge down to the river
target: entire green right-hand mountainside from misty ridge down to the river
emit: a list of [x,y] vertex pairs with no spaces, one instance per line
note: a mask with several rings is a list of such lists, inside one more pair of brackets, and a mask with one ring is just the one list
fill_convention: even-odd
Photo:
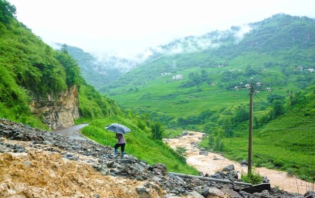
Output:
[[[231,31],[186,37],[162,46],[181,53],[157,53],[100,90],[127,111],[148,113],[168,127],[166,137],[183,130],[209,134],[200,146],[223,151],[234,160],[247,159],[248,90],[240,82],[261,82],[254,97],[255,166],[312,176],[314,166],[315,20],[278,14],[248,25],[244,38]],[[221,35],[220,37],[218,35]],[[210,39],[215,46],[191,43]],[[170,75],[161,75],[162,73]],[[183,75],[181,80],[172,80]],[[308,87],[308,88],[307,88]],[[305,91],[303,91],[307,88]],[[304,97],[305,96],[305,97]]]

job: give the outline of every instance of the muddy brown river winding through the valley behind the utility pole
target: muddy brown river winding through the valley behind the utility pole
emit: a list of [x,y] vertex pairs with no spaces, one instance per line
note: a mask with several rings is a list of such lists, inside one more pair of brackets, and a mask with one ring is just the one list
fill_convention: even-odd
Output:
[[[190,132],[191,133],[191,132]],[[164,139],[172,148],[184,147],[187,151],[187,163],[203,173],[213,174],[217,170],[222,170],[225,166],[233,164],[235,170],[247,172],[247,166],[242,167],[235,161],[228,160],[217,153],[209,153],[208,156],[199,155],[199,149],[193,146],[191,142],[199,142],[199,138],[202,137],[202,133],[193,132],[193,136],[182,136],[178,139]],[[214,157],[219,160],[213,160]],[[271,186],[279,186],[280,189],[291,193],[306,193],[305,181],[296,179],[295,177],[289,177],[286,172],[279,170],[270,170],[266,168],[257,168],[258,172],[262,176],[267,176],[270,180]],[[298,187],[297,187],[298,186]]]

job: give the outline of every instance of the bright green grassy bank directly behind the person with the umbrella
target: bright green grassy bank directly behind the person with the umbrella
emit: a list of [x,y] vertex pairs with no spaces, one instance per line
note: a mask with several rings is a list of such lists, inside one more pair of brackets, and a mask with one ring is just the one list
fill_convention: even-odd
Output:
[[92,120],[89,126],[82,129],[82,134],[103,145],[114,146],[117,143],[115,134],[104,129],[111,123],[124,124],[131,132],[124,135],[126,140],[126,154],[144,160],[148,164],[165,164],[168,171],[198,175],[198,171],[187,165],[185,158],[179,156],[171,147],[162,141],[154,141],[151,132],[146,127],[141,130],[137,127],[136,119],[110,117]]

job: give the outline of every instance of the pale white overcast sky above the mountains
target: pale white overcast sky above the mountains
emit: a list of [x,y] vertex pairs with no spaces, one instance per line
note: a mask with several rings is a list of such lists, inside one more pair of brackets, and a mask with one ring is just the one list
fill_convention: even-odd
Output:
[[133,56],[148,47],[261,21],[277,13],[315,18],[315,0],[8,0],[47,43]]

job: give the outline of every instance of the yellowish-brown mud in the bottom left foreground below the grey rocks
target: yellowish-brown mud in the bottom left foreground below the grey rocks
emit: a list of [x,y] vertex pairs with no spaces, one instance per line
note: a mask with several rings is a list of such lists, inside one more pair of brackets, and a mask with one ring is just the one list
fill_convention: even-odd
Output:
[[[0,197],[135,198],[139,197],[136,189],[145,183],[102,175],[85,163],[63,158],[58,152],[19,143],[24,144],[28,153],[0,153]],[[150,189],[150,194],[158,198],[163,192]]]

